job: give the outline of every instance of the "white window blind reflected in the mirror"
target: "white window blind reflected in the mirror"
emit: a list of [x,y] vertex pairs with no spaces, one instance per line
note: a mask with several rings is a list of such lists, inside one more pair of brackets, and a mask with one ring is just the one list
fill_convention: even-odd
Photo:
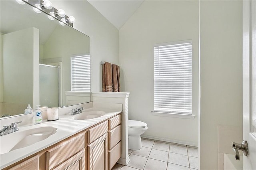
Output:
[[90,92],[90,55],[71,57],[71,91]]

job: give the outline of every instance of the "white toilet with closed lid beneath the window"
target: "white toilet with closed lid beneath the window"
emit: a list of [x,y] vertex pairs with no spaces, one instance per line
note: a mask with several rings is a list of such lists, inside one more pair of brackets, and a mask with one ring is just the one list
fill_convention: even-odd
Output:
[[139,150],[142,148],[140,135],[148,129],[146,123],[128,120],[128,149]]

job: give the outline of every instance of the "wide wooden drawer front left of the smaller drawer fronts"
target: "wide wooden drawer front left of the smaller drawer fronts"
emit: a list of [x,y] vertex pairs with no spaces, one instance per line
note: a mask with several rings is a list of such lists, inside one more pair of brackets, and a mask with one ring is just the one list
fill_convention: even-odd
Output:
[[50,170],[84,148],[84,134],[74,136],[46,152],[46,169]]

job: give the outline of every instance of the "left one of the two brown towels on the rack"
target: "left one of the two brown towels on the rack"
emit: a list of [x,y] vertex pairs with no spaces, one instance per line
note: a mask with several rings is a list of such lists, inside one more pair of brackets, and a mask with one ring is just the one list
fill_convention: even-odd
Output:
[[112,67],[111,67],[111,63],[108,63],[108,62],[105,62],[105,64],[103,64],[102,91],[103,92],[112,92],[113,91]]

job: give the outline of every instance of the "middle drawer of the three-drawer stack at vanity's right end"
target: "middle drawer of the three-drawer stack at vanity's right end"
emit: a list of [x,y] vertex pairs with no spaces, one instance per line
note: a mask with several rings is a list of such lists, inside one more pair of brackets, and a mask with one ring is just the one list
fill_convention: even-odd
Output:
[[109,131],[108,149],[112,149],[122,139],[122,126],[119,125]]

